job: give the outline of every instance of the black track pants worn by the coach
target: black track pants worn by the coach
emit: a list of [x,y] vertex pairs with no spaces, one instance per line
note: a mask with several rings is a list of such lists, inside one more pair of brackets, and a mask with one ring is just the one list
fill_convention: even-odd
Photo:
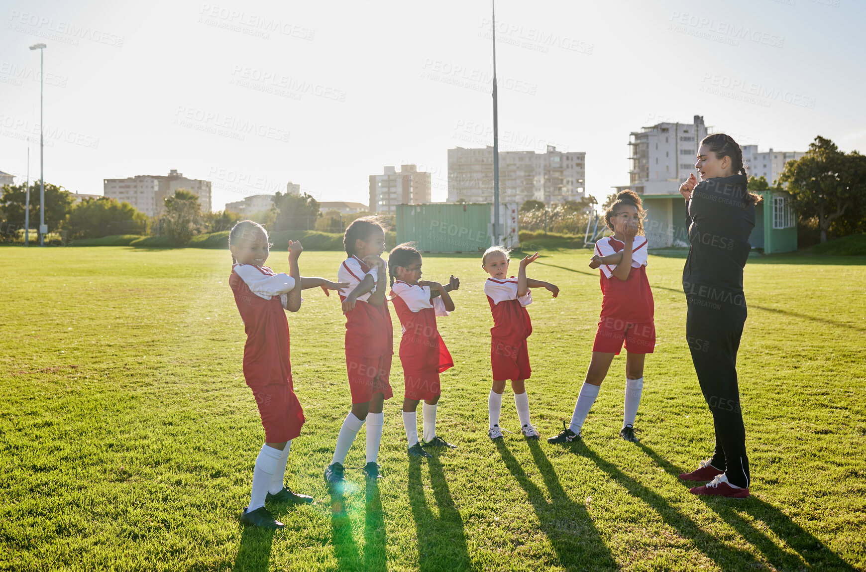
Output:
[[[724,470],[731,484],[750,482],[746,428],[737,385],[737,350],[746,323],[745,302],[716,303],[688,296],[686,337],[701,392],[713,413],[715,452],[712,465]],[[739,300],[742,300],[740,296]]]

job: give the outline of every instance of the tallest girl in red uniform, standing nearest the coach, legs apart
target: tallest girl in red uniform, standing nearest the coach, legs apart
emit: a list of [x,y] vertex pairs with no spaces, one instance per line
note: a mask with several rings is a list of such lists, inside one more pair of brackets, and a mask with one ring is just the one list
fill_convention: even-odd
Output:
[[643,393],[643,361],[656,347],[656,327],[653,322],[653,299],[647,280],[647,239],[643,234],[643,205],[634,192],[623,191],[604,214],[612,237],[596,243],[590,266],[601,268],[601,291],[604,295],[598,331],[592,346],[592,359],[586,372],[578,402],[574,406],[572,423],[565,426],[550,443],[568,443],[580,438],[586,415],[598,397],[601,382],[619,354],[625,341],[625,404],[623,439],[637,442],[635,417]]

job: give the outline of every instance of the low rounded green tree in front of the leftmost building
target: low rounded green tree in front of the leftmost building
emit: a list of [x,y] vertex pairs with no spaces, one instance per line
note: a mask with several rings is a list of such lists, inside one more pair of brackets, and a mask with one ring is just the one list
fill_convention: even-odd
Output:
[[144,231],[147,215],[114,198],[85,198],[69,213],[73,238],[98,238]]

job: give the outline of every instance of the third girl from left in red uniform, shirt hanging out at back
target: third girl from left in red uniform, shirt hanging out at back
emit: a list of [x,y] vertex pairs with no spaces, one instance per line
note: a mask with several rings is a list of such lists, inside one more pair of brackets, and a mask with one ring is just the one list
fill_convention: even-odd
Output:
[[[423,400],[423,446],[451,445],[436,436],[436,404],[442,395],[439,374],[454,367],[448,348],[436,328],[437,315],[454,311],[450,290],[460,287],[460,280],[451,276],[443,286],[421,280],[421,253],[410,244],[400,244],[388,257],[391,269],[391,302],[397,310],[403,337],[400,340],[400,362],[403,364],[405,393],[403,425],[410,456],[430,457],[418,441],[417,407]],[[396,280],[395,280],[396,278]]]

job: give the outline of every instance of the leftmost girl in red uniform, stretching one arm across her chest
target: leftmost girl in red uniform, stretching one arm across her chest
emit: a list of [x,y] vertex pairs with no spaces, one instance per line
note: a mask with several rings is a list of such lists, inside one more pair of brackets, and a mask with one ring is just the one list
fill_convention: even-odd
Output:
[[255,458],[249,506],[242,523],[266,528],[283,524],[265,508],[265,500],[309,503],[312,497],[298,495],[283,485],[288,450],[301,434],[304,412],[294,395],[289,362],[288,321],[284,309],[301,308],[301,289],[321,286],[338,289],[324,278],[302,278],[298,270],[301,243],[288,245],[289,274],[276,274],[263,264],[268,259],[268,232],[262,225],[244,220],[229,233],[233,264],[229,286],[241,313],[247,343],[243,348],[243,376],[255,395],[262,415],[265,444]]

